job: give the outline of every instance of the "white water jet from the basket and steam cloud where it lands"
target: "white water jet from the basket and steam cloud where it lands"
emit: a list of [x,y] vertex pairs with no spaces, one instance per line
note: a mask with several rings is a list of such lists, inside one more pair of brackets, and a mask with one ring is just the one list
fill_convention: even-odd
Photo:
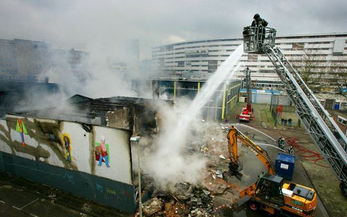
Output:
[[243,51],[242,44],[213,73],[194,101],[185,105],[180,103],[180,108],[183,108],[180,112],[183,115],[173,116],[167,108],[162,111],[162,119],[165,120],[164,131],[158,138],[158,150],[149,156],[148,168],[146,168],[146,173],[149,173],[157,184],[198,181],[201,169],[205,168],[206,159],[201,155],[183,155],[183,150],[187,146],[190,133],[194,130],[194,119],[219,85],[230,78],[229,73],[244,53]]

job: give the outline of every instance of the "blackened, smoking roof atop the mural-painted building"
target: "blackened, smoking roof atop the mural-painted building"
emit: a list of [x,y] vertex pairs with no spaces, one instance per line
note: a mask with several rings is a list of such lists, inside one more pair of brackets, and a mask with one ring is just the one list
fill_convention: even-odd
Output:
[[[94,125],[110,126],[144,132],[144,128],[155,128],[158,100],[114,96],[110,98],[89,98],[76,94],[58,107],[43,110],[18,112],[23,116],[39,119],[54,119]],[[172,101],[167,101],[173,103]],[[112,120],[111,120],[112,119]],[[136,120],[135,120],[136,119]]]

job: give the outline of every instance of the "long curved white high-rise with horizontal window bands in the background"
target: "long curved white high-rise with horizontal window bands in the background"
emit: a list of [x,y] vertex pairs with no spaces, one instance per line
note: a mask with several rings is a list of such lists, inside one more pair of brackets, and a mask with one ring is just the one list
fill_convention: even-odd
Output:
[[[276,46],[280,47],[298,71],[306,71],[309,76],[314,74],[312,78],[307,78],[310,82],[314,83],[317,78],[321,78],[319,83],[322,87],[317,90],[321,101],[337,94],[337,98],[334,98],[339,101],[340,107],[346,107],[347,102],[346,98],[337,93],[346,92],[346,42],[347,33],[276,37]],[[156,46],[152,49],[152,69],[158,71],[162,78],[209,78],[242,43],[242,38],[228,38]],[[235,79],[243,79],[242,71],[249,67],[255,87],[266,89],[282,86],[266,55],[244,53],[239,62],[244,64],[235,73]]]

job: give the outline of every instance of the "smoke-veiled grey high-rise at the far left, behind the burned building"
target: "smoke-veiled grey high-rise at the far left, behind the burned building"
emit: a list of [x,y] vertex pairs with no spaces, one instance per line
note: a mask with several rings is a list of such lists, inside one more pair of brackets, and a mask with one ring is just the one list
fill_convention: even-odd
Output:
[[84,51],[53,49],[45,42],[0,40],[0,80],[36,82],[40,73],[56,66],[82,74],[86,57]]

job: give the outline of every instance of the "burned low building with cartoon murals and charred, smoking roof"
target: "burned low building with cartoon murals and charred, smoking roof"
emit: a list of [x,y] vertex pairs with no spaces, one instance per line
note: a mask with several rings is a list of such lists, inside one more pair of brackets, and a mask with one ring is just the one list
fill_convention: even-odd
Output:
[[157,130],[155,103],[75,95],[0,119],[0,171],[135,211],[130,137]]

